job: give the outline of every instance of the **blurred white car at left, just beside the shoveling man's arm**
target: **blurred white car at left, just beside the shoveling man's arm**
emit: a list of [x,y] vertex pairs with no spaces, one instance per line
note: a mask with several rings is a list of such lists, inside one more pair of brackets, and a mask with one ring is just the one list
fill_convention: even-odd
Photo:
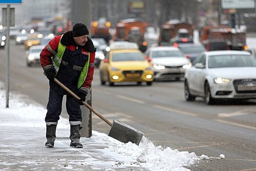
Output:
[[34,45],[31,46],[27,52],[27,66],[32,64],[40,63],[40,53],[42,52],[45,45]]

